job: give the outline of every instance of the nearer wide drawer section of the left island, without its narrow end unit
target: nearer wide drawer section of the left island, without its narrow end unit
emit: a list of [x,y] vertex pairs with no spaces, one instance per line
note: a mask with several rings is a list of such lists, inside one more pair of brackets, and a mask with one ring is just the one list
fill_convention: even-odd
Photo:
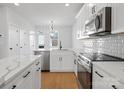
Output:
[[20,73],[17,77],[8,83],[3,89],[32,89],[33,88],[33,69],[32,66],[24,73]]

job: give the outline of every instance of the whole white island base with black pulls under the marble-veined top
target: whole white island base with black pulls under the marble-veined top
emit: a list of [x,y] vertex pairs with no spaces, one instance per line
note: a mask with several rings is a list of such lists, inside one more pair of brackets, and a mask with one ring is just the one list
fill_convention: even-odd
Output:
[[24,72],[8,82],[3,89],[40,89],[41,88],[41,59],[29,66]]

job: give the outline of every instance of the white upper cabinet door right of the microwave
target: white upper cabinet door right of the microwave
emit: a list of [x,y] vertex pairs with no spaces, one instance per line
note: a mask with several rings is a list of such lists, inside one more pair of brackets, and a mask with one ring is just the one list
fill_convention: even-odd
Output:
[[113,14],[113,24],[112,24],[112,33],[121,33],[124,32],[124,4],[116,3],[112,4],[112,14]]

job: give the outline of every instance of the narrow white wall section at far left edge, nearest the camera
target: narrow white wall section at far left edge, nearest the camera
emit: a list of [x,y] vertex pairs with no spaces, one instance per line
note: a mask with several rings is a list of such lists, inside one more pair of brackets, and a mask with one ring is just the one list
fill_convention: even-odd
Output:
[[8,56],[7,8],[0,6],[0,58]]

